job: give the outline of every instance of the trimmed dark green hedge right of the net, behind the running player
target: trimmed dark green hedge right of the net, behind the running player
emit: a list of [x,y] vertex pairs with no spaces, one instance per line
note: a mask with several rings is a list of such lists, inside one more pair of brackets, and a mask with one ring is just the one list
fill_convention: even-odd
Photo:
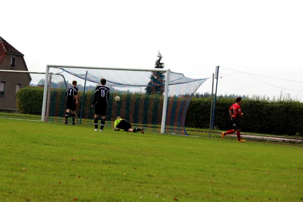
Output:
[[[219,98],[216,102],[214,127],[230,129],[229,107],[235,103],[232,98]],[[271,101],[244,99],[244,116],[241,130],[245,132],[279,135],[302,135],[303,104],[294,100]],[[193,98],[188,106],[185,125],[195,128],[210,127],[210,98]]]

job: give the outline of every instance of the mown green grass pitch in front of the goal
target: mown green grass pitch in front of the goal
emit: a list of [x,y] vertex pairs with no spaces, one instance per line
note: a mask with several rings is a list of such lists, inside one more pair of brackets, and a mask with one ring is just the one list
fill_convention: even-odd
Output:
[[7,119],[0,128],[0,201],[303,201],[299,146]]

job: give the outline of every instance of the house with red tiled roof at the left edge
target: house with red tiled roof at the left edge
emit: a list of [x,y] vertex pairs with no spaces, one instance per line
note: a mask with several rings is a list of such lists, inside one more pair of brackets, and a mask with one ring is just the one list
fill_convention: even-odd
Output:
[[[28,71],[24,55],[1,36],[0,70]],[[30,81],[29,73],[0,72],[0,110],[17,110],[17,92]]]

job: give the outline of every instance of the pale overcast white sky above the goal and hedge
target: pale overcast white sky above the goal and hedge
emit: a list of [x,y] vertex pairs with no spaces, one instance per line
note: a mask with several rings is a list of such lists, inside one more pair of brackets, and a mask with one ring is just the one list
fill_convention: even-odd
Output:
[[[303,101],[302,0],[0,1],[0,36],[29,71],[152,69],[160,51],[186,77],[212,78],[219,66],[217,94]],[[211,90],[209,79],[197,92]]]

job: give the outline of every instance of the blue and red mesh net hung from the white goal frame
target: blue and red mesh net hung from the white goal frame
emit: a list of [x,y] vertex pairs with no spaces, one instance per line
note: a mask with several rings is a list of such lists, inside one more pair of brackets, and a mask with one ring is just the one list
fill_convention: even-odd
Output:
[[[25,89],[18,92],[17,96],[20,98],[17,106],[21,113],[39,116],[39,113],[45,112],[45,121],[64,123],[65,92],[72,85],[72,81],[76,80],[78,87],[77,122],[81,125],[93,125],[94,109],[91,107],[91,103],[94,90],[99,85],[100,79],[105,78],[106,86],[110,88],[106,126],[113,127],[114,121],[120,116],[128,120],[133,127],[161,132],[164,119],[165,128],[162,131],[183,135],[187,134],[184,124],[191,97],[206,81],[206,79],[188,78],[175,72],[170,72],[168,75],[167,70],[163,69],[136,70],[69,66],[47,66],[47,69],[46,82],[45,75],[32,76],[30,86],[33,87],[30,87],[30,90],[33,91],[32,89],[35,88],[36,92],[32,92],[33,95],[28,96],[28,99],[32,99],[32,101],[27,102],[28,105],[32,103],[30,107],[32,111],[26,111],[28,107],[22,106],[24,103],[22,91],[24,94],[28,92],[25,92]],[[169,78],[168,81],[167,78]],[[44,83],[46,84],[46,94]],[[166,84],[168,84],[167,91],[165,91]],[[165,92],[167,93],[165,94]],[[121,100],[116,101],[116,96],[120,96]],[[163,110],[165,107],[166,110]]]

